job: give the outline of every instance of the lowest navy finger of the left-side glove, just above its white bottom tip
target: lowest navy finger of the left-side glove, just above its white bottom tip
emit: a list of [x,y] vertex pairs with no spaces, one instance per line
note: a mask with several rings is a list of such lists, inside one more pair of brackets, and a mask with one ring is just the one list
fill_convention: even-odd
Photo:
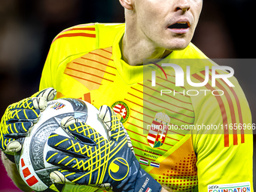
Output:
[[[8,135],[15,136],[14,133],[27,133],[29,128],[33,126],[32,122],[19,122],[19,123],[10,123],[8,124]],[[8,135],[5,135],[5,137],[8,137]],[[22,135],[20,135],[22,136]]]

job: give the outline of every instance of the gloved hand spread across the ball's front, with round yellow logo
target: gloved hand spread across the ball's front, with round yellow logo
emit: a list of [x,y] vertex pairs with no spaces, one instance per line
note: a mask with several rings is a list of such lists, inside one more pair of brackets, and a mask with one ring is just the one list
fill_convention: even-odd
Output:
[[109,186],[114,191],[160,191],[160,184],[141,168],[129,148],[117,114],[103,105],[99,117],[108,127],[109,139],[75,118],[62,120],[63,129],[72,138],[56,133],[50,135],[48,145],[63,151],[47,152],[48,163],[63,167],[50,174],[52,180],[56,183]]

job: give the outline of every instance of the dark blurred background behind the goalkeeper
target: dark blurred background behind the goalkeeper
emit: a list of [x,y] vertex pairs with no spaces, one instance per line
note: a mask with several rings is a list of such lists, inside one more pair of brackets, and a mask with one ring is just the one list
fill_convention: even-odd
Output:
[[[212,59],[255,58],[255,5],[255,0],[204,1],[192,42]],[[81,23],[123,21],[118,0],[0,0],[0,117],[8,105],[38,91],[47,52],[59,32]],[[255,123],[256,65],[234,69]],[[2,165],[0,191],[20,191]]]

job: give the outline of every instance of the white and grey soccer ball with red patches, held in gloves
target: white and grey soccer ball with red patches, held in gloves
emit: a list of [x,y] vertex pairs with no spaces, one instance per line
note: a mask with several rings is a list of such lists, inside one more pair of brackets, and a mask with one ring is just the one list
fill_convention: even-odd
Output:
[[73,116],[84,121],[106,139],[108,138],[102,120],[99,120],[98,109],[89,102],[80,99],[56,99],[47,103],[37,123],[29,130],[23,140],[20,154],[15,154],[15,161],[21,178],[35,191],[62,191],[63,184],[53,184],[50,172],[59,169],[45,160],[47,151],[56,151],[47,145],[50,133],[70,137],[60,127],[64,117]]

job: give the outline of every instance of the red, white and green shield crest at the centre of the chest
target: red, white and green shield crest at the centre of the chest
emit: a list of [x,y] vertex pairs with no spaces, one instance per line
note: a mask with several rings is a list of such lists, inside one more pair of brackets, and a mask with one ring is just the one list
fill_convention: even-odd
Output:
[[154,116],[147,136],[151,148],[160,148],[164,144],[170,121],[170,117],[164,112],[158,112]]

